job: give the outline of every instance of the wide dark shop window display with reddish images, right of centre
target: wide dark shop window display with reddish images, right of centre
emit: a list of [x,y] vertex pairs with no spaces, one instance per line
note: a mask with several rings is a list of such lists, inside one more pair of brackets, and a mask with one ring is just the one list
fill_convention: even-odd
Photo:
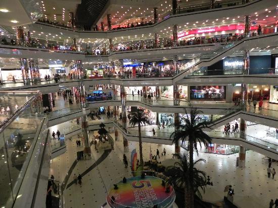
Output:
[[190,86],[190,99],[202,101],[225,101],[225,86]]

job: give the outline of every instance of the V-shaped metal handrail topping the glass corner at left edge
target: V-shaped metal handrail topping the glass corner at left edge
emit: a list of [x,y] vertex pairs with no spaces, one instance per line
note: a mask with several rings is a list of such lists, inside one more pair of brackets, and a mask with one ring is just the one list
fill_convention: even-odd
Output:
[[18,92],[30,92],[34,93],[36,92],[27,102],[25,102],[21,107],[19,107],[14,113],[12,113],[7,119],[5,119],[1,124],[0,124],[0,133],[5,130],[5,128],[11,124],[29,105],[31,102],[33,102],[40,94],[40,91],[0,91],[0,93],[18,93]]

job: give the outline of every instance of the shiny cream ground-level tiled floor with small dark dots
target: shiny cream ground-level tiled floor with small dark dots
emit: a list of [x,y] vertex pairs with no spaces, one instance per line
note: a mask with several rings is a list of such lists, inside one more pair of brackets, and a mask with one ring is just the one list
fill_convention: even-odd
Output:
[[[96,132],[94,132],[96,133]],[[92,138],[90,132],[90,138]],[[110,134],[114,137],[114,134]],[[82,147],[76,147],[76,138],[72,141],[66,140],[66,153],[55,158],[51,162],[50,175],[53,174],[55,179],[64,181],[64,178],[72,166],[76,158],[76,151]],[[106,193],[113,179],[122,174],[128,173],[129,168],[125,169],[122,162],[122,155],[125,153],[130,158],[130,152],[136,148],[137,142],[130,142],[127,148],[123,147],[122,137],[115,141],[114,150],[112,150],[107,158],[103,160],[97,167],[89,171],[82,178],[82,185],[73,184],[64,191],[66,207],[100,207],[106,201]],[[171,145],[158,145],[143,143],[144,160],[149,160],[150,148],[154,153],[158,148],[160,151],[165,147],[166,157],[161,157],[158,161],[170,159],[174,153],[174,147]],[[76,175],[85,172],[92,166],[104,152],[96,152],[94,145],[91,146],[92,158],[90,160],[79,161],[74,167],[72,174],[69,176],[68,184],[73,180],[73,174]],[[181,149],[183,151],[183,149]],[[194,155],[195,160],[198,158]],[[262,162],[263,155],[248,150],[246,154],[246,168],[236,168],[236,158],[238,154],[219,155],[211,153],[199,153],[199,158],[204,158],[206,164],[200,164],[198,168],[207,172],[214,184],[214,190],[219,195],[223,195],[223,189],[226,185],[233,185],[235,189],[234,202],[239,207],[246,207],[240,200],[242,197],[256,198],[259,202],[253,207],[267,207],[270,198],[276,198],[278,182],[276,179],[267,178],[267,164]],[[128,161],[129,162],[129,161]],[[277,163],[272,163],[272,167],[278,170]],[[67,186],[67,185],[66,185]],[[207,189],[207,194],[209,194]],[[204,198],[208,198],[207,194]],[[238,202],[237,202],[238,201]],[[243,205],[242,205],[243,204]]]

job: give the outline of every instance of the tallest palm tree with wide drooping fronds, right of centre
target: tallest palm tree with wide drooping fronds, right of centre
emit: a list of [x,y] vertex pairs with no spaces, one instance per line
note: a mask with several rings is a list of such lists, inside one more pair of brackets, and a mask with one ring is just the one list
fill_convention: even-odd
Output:
[[[198,154],[197,144],[199,142],[200,147],[202,148],[202,143],[204,143],[205,147],[208,146],[208,143],[211,143],[211,138],[206,133],[203,132],[204,128],[209,128],[208,124],[210,122],[202,120],[200,114],[203,114],[202,111],[199,111],[197,108],[191,108],[190,114],[187,113],[186,117],[181,118],[181,123],[175,126],[175,131],[170,135],[170,138],[173,139],[173,143],[178,144],[180,140],[182,143],[188,139],[189,146],[189,177],[193,180],[193,169],[194,169],[194,161],[193,161],[193,152],[194,149]],[[190,204],[194,206],[194,190],[193,187],[190,188]]]

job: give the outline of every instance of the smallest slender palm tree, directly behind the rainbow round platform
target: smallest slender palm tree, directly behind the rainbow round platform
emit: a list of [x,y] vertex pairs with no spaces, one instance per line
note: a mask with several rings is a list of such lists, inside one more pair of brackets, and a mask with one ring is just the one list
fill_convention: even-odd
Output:
[[141,125],[150,124],[149,115],[145,113],[144,110],[137,109],[136,112],[132,112],[129,114],[129,124],[131,126],[138,125],[138,135],[139,135],[139,154],[140,154],[140,165],[143,166],[143,153],[142,153],[142,138],[141,138]]

